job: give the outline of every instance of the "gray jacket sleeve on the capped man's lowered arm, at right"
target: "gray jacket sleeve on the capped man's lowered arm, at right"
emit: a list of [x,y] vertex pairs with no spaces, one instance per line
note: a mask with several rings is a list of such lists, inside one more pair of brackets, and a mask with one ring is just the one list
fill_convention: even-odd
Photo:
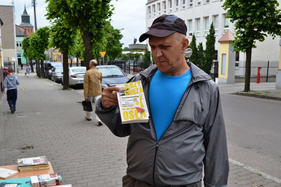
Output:
[[209,113],[203,126],[205,187],[226,187],[229,172],[225,123],[219,90],[210,98]]

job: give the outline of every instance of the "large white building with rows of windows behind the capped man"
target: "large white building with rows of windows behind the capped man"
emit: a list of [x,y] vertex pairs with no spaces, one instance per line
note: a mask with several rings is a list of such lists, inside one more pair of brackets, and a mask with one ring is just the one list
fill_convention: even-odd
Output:
[[[278,0],[281,4],[281,0]],[[234,35],[234,23],[225,18],[226,10],[221,7],[220,0],[148,0],[146,4],[146,30],[149,30],[153,20],[162,14],[173,14],[185,21],[187,25],[187,38],[191,42],[192,34],[196,36],[197,45],[202,42],[206,49],[206,36],[209,27],[214,22],[216,41],[229,29]],[[148,40],[146,40],[148,43]],[[252,61],[279,60],[279,37],[272,40],[267,37],[263,42],[256,42],[257,48],[252,49]],[[219,54],[219,43],[215,43],[216,54]],[[149,47],[150,50],[150,47]],[[218,60],[218,58],[216,59]],[[246,54],[236,53],[236,61],[246,60]]]

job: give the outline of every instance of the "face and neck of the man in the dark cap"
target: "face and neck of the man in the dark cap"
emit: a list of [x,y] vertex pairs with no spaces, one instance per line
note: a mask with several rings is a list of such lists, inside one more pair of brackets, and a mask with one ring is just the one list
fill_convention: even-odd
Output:
[[169,74],[178,69],[183,56],[183,45],[182,42],[176,40],[174,34],[164,38],[149,36],[149,45],[159,71]]

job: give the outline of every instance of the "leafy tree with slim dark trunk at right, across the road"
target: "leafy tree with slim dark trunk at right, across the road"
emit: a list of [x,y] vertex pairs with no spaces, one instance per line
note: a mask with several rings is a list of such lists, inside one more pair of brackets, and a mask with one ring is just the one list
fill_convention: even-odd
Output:
[[[221,0],[222,1],[222,0]],[[231,22],[235,21],[235,40],[232,46],[236,52],[246,52],[244,91],[250,91],[251,54],[256,41],[266,36],[281,35],[281,10],[277,0],[225,0],[224,10]]]

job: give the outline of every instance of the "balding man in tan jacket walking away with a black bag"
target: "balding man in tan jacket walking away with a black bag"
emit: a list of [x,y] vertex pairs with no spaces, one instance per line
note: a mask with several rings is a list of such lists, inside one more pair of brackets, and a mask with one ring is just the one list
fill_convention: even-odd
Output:
[[[103,75],[99,70],[97,70],[97,64],[98,62],[96,60],[91,60],[89,63],[90,69],[86,71],[84,75],[84,97],[85,100],[87,99],[91,101],[91,103],[93,102],[93,100],[96,103],[97,100],[101,97],[101,81],[103,79]],[[91,121],[91,115],[92,112],[86,112],[85,119]],[[98,120],[99,125],[103,125],[97,115],[96,119]]]

